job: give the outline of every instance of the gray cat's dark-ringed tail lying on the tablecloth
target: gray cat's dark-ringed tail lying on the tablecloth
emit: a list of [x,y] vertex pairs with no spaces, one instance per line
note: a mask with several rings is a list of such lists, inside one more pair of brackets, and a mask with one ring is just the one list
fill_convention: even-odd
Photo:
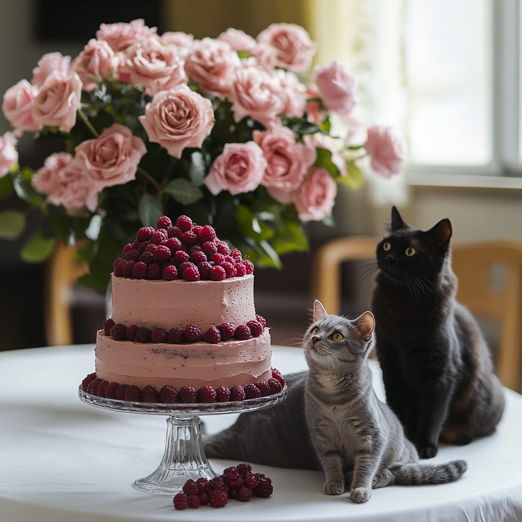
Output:
[[454,482],[467,468],[465,460],[452,460],[446,464],[404,464],[391,471],[395,474],[395,484],[414,486]]

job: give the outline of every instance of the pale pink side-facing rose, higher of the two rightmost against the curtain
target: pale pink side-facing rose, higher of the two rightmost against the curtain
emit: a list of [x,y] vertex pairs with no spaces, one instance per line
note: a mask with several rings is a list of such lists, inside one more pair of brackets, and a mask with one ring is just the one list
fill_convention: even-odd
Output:
[[338,60],[327,67],[317,67],[315,82],[324,106],[330,111],[347,115],[357,103],[357,78]]

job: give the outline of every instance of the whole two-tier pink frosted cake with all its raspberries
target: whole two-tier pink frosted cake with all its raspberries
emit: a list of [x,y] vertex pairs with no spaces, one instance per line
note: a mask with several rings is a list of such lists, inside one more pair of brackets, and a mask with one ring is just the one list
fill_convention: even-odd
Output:
[[144,402],[224,402],[277,393],[253,265],[186,216],[140,229],[112,274],[88,393]]

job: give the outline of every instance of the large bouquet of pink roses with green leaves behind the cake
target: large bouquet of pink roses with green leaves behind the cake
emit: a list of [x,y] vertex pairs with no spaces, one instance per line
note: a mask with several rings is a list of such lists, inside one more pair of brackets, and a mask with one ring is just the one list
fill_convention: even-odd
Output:
[[[330,136],[331,117],[353,124],[357,82],[339,62],[302,82],[315,44],[302,28],[275,23],[257,35],[217,39],[102,24],[79,56],[45,54],[31,81],[4,94],[14,131],[0,137],[0,198],[13,191],[43,214],[22,259],[42,262],[58,238],[74,243],[104,290],[119,246],[162,215],[212,224],[259,266],[304,251],[303,220],[327,218],[337,183],[356,186],[369,155],[390,176],[405,160],[388,127],[364,145]],[[20,169],[23,131],[62,152],[36,172]],[[25,213],[0,213],[0,238],[15,239]]]

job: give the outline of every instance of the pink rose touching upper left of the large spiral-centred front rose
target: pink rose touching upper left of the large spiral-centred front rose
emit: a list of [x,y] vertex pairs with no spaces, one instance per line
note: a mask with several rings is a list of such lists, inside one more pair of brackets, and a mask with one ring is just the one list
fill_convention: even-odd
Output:
[[125,55],[120,72],[129,75],[132,85],[144,86],[150,96],[186,80],[183,58],[175,45],[162,45],[155,38],[148,38],[129,46]]

